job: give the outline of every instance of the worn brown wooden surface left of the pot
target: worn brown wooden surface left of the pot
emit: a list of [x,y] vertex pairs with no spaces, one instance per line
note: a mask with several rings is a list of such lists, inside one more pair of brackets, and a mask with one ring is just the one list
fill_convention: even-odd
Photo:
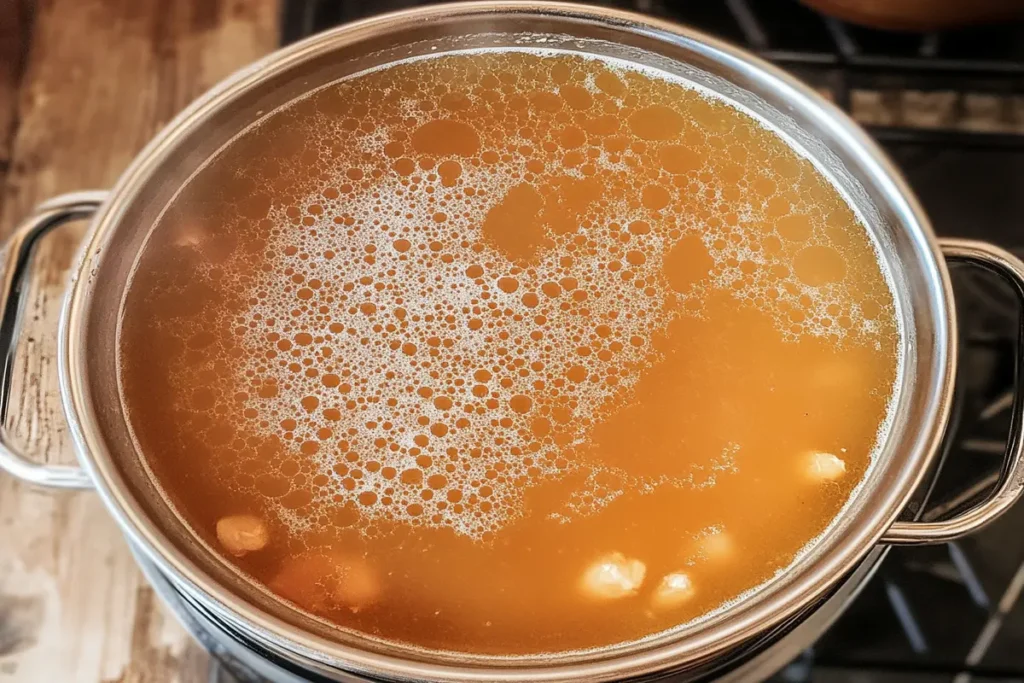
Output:
[[[276,44],[272,0],[50,0],[31,25],[28,6],[0,0],[0,234],[48,197],[111,185],[178,110]],[[82,229],[39,250],[15,364],[8,428],[47,461],[73,460],[54,334]],[[194,683],[211,667],[94,495],[0,476],[0,681]]]

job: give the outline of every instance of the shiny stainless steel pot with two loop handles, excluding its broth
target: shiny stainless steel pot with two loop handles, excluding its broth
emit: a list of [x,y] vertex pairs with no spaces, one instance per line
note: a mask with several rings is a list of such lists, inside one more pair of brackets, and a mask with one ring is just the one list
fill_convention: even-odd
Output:
[[[703,622],[588,653],[499,658],[419,650],[333,628],[281,604],[201,546],[139,464],[117,384],[117,325],[132,265],[177,187],[263,112],[323,84],[417,55],[543,46],[660,69],[717,92],[774,127],[830,175],[881,246],[904,329],[894,420],[863,485],[839,522],[792,567]],[[474,2],[389,14],[342,27],[239,72],[178,116],[109,195],[56,198],[10,240],[0,283],[0,344],[17,338],[33,245],[92,215],[58,331],[60,389],[81,468],[31,462],[0,433],[0,467],[26,481],[93,486],[125,535],[181,595],[267,657],[328,680],[606,681],[695,672],[808,613],[879,544],[947,541],[1005,512],[1024,490],[1022,414],[1015,398],[1005,472],[995,493],[955,518],[896,521],[936,453],[949,412],[955,322],[946,260],[1007,280],[1024,302],[1024,264],[963,240],[937,241],[913,196],[873,142],[839,110],[775,68],[682,27],[616,10],[553,2]],[[1020,351],[1018,353],[1020,355]],[[8,377],[0,386],[6,415]]]

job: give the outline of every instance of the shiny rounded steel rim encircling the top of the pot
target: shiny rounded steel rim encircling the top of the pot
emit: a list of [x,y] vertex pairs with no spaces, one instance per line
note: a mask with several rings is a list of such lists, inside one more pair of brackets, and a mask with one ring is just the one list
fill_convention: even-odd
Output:
[[[912,438],[907,439],[905,446],[909,453],[905,458],[906,464],[894,473],[892,485],[885,496],[885,505],[878,509],[861,510],[860,516],[865,520],[851,525],[849,533],[836,543],[833,552],[822,558],[813,570],[804,571],[794,581],[772,589],[769,598],[749,607],[727,610],[725,614],[728,618],[701,624],[695,633],[680,633],[677,638],[665,643],[640,643],[644,645],[640,651],[597,650],[590,655],[591,658],[586,658],[585,655],[585,658],[568,663],[552,658],[548,665],[538,664],[539,659],[534,657],[527,666],[515,668],[514,665],[529,658],[474,656],[467,657],[464,665],[437,664],[345,645],[302,631],[251,605],[213,581],[144,516],[137,502],[121,485],[117,468],[98,429],[95,405],[86,382],[89,357],[84,335],[92,301],[90,282],[95,274],[94,264],[103,249],[103,236],[119,223],[128,204],[151,180],[157,162],[175,146],[183,131],[199,125],[211,113],[228,106],[241,93],[258,88],[272,75],[283,73],[313,55],[358,42],[379,32],[398,31],[401,27],[428,19],[437,20],[453,15],[485,17],[499,14],[563,17],[567,20],[596,23],[644,33],[662,41],[684,43],[688,49],[726,62],[735,72],[770,83],[795,108],[813,117],[815,123],[840,140],[852,155],[851,163],[860,167],[879,184],[888,208],[896,216],[895,222],[907,231],[916,253],[922,256],[929,287],[935,292],[940,304],[939,309],[934,311],[937,318],[935,338],[930,340],[935,350],[934,360],[931,368],[921,370],[919,377],[922,381],[915,387],[915,391],[927,396],[927,418]],[[392,680],[402,677],[489,683],[600,681],[632,677],[703,660],[793,616],[802,606],[820,598],[840,577],[850,571],[879,542],[902,511],[924,476],[931,456],[942,437],[948,418],[955,367],[951,288],[930,223],[899,172],[857,124],[796,78],[715,38],[671,22],[633,12],[548,0],[482,0],[382,14],[315,35],[242,69],[175,117],[135,158],[93,220],[71,283],[58,332],[61,400],[79,461],[125,535],[161,571],[211,600],[220,611],[247,631],[259,634],[262,638],[270,638],[279,646],[328,666],[343,663],[346,668],[354,671]],[[924,375],[926,370],[927,376]]]

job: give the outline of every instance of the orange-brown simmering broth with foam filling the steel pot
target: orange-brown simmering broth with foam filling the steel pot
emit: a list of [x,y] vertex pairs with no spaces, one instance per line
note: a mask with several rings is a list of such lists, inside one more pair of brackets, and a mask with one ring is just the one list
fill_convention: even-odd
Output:
[[342,627],[534,653],[771,579],[862,478],[899,329],[752,117],[616,62],[411,61],[265,117],[167,208],[121,383],[169,501]]

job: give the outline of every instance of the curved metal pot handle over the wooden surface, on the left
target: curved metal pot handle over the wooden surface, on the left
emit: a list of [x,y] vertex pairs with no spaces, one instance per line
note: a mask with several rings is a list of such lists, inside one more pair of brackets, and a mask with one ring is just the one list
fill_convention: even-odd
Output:
[[14,350],[22,329],[22,311],[39,241],[54,227],[70,220],[92,216],[106,199],[103,191],[59,195],[40,204],[4,245],[3,276],[0,281],[0,470],[26,483],[47,488],[90,488],[89,475],[76,465],[48,465],[33,462],[7,434],[11,373]]

